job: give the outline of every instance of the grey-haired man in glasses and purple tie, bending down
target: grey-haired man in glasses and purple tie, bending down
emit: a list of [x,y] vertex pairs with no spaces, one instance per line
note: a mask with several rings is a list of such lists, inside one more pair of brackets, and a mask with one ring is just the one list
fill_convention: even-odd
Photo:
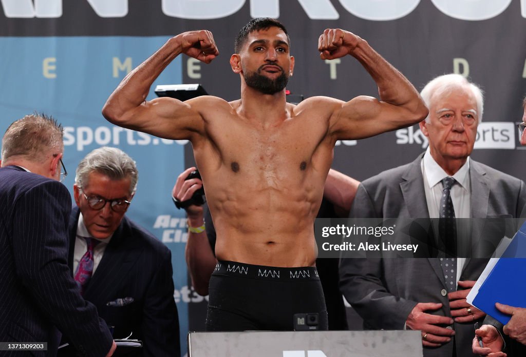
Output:
[[134,356],[179,356],[170,250],[125,213],[138,171],[117,148],[80,161],[69,220],[69,266],[83,296],[114,327],[115,338],[143,341]]

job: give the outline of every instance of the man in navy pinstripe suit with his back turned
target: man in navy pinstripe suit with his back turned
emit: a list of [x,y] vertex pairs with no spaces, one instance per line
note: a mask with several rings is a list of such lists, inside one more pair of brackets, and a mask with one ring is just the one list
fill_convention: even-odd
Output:
[[[112,335],[93,304],[80,296],[67,267],[71,196],[58,182],[66,175],[65,169],[61,172],[63,153],[62,125],[44,114],[25,116],[4,134],[0,341],[32,343],[32,355],[54,356],[58,329],[79,355],[110,356],[115,351]],[[4,350],[2,355],[20,353]]]

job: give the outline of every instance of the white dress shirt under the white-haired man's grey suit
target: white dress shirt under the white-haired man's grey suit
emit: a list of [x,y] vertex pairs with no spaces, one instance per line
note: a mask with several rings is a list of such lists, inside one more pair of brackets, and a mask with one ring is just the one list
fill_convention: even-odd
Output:
[[[438,218],[440,212],[440,198],[442,197],[443,178],[449,175],[434,161],[429,148],[422,158],[422,175],[424,178],[424,191],[430,218]],[[451,201],[455,211],[455,218],[471,218],[471,182],[469,180],[469,157],[460,169],[453,175],[457,182],[451,187]],[[457,225],[459,237],[467,236],[468,225]],[[457,281],[462,274],[462,268],[466,258],[457,258]]]

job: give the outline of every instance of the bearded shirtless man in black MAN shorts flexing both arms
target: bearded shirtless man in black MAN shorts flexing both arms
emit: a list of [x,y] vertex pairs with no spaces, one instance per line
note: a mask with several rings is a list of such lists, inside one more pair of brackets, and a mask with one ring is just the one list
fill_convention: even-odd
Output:
[[416,89],[365,40],[326,29],[318,49],[321,59],[351,55],[360,61],[380,100],[312,97],[287,103],[285,86],[294,71],[287,30],[277,20],[256,18],[240,30],[230,57],[241,99],[145,101],[154,80],[181,53],[207,64],[219,55],[210,31],[199,30],[170,38],[123,79],[104,106],[104,117],[120,127],[193,145],[217,232],[209,331],[292,330],[295,313],[318,313],[326,329],[313,267],[313,222],[335,143],[427,116]]

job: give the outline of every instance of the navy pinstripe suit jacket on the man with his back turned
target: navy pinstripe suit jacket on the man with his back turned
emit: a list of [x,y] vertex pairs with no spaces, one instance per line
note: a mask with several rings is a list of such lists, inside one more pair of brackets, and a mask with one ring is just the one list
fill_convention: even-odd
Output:
[[106,355],[111,335],[67,266],[67,188],[7,166],[0,169],[0,202],[0,341],[48,342],[47,352],[2,355],[54,356],[56,328],[83,355]]

